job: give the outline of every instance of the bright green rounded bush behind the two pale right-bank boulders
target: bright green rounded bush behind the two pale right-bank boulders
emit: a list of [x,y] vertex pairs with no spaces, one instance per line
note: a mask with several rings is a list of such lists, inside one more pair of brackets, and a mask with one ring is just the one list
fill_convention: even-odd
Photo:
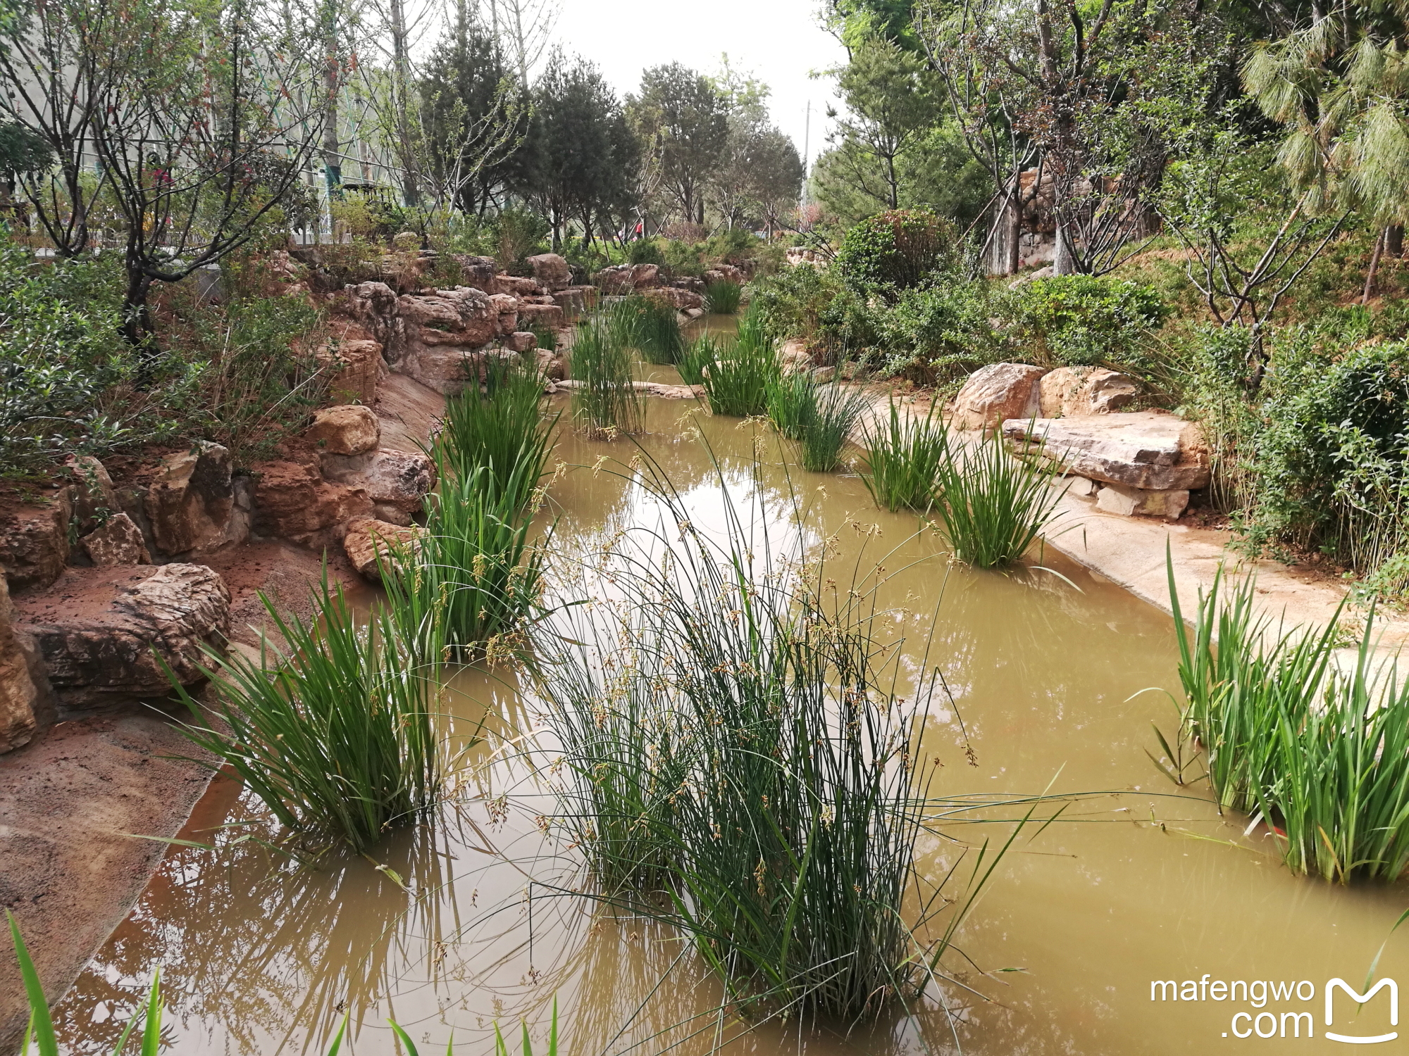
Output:
[[1007,307],[1027,355],[1061,366],[1129,358],[1169,311],[1153,286],[1093,275],[1034,279],[1017,287]]

